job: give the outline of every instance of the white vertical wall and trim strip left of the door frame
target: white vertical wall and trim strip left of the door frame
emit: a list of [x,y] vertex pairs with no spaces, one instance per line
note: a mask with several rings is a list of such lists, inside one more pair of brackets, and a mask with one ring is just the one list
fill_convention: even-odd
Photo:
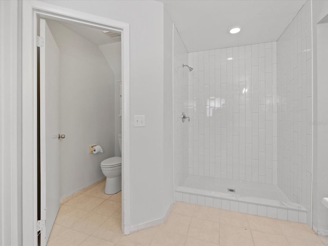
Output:
[[18,2],[0,11],[0,245],[18,245]]

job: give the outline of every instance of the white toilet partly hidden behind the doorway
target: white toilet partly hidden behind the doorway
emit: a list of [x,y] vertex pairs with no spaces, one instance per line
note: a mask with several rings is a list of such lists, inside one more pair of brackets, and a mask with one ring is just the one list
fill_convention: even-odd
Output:
[[[121,151],[122,137],[118,134],[118,145]],[[111,157],[107,158],[100,163],[101,171],[106,176],[106,194],[115,194],[121,190],[121,180],[122,180],[122,157]]]

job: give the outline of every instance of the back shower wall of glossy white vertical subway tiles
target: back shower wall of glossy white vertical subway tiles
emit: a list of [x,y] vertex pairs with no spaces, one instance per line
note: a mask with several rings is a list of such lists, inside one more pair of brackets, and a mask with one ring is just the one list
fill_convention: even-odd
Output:
[[189,53],[189,173],[277,183],[276,42]]

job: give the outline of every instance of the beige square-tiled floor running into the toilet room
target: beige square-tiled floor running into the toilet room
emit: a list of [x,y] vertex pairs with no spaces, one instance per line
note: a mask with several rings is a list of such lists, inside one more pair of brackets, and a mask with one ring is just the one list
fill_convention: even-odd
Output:
[[105,182],[61,205],[48,246],[328,245],[303,223],[176,202],[165,223],[122,235],[120,193]]

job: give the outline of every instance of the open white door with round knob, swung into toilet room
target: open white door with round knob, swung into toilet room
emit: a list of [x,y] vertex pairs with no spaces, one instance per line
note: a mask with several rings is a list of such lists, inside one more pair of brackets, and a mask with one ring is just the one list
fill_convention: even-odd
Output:
[[40,19],[40,218],[41,246],[47,244],[59,201],[59,49],[45,19]]

